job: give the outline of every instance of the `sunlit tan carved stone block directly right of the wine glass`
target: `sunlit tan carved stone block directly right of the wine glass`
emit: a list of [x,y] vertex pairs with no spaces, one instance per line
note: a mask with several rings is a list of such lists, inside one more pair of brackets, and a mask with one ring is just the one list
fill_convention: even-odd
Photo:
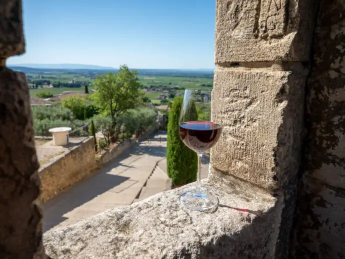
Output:
[[305,75],[223,69],[214,74],[212,120],[223,126],[211,167],[275,189],[295,177]]

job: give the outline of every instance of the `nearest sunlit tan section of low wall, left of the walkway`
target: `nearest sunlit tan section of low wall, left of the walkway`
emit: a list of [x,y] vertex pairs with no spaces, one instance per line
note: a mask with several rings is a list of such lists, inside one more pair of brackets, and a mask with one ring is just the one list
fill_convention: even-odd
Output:
[[89,137],[39,169],[41,202],[47,201],[94,172],[97,163],[93,145],[93,137]]

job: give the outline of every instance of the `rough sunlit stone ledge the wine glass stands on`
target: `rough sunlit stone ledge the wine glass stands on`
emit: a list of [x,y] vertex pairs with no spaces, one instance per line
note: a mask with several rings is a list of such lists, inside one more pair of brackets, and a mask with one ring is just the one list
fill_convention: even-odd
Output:
[[[51,258],[274,258],[282,198],[236,179],[212,213],[183,208],[178,196],[194,183],[116,207],[43,235]],[[218,181],[219,182],[219,181]]]

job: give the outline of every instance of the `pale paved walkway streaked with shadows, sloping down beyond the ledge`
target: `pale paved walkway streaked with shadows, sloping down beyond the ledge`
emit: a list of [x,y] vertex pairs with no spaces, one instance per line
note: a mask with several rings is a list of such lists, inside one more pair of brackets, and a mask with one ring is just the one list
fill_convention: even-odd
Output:
[[154,169],[157,162],[165,158],[165,151],[166,133],[156,132],[93,176],[48,200],[43,205],[43,231],[73,224],[162,191],[162,182],[167,176]]

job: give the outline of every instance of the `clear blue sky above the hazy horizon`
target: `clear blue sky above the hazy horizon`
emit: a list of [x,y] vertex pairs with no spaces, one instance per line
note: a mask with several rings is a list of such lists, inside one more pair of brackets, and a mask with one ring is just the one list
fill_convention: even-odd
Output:
[[213,68],[215,0],[23,0],[26,53],[8,64]]

